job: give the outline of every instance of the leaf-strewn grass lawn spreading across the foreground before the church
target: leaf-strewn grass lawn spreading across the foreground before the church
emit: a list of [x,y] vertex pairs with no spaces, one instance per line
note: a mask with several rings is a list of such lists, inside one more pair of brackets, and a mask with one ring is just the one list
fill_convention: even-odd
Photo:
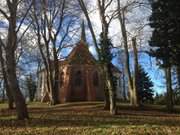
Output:
[[0,135],[180,135],[180,114],[168,114],[162,106],[119,104],[116,116],[101,102],[30,103],[28,108],[30,119],[17,121],[15,111],[0,104]]

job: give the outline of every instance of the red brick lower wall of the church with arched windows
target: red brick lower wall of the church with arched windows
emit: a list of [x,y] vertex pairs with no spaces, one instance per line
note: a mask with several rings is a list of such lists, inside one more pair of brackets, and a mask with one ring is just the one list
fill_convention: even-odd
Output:
[[[65,66],[67,70],[64,70],[64,84],[60,88],[59,100],[63,102],[68,101],[95,101],[103,99],[103,83],[101,83],[101,77],[98,66],[93,65],[72,65]],[[62,70],[62,69],[61,69]],[[77,72],[81,72],[82,84],[76,85]],[[93,73],[97,71],[99,76],[98,87],[93,84]],[[97,99],[98,98],[98,99]]]

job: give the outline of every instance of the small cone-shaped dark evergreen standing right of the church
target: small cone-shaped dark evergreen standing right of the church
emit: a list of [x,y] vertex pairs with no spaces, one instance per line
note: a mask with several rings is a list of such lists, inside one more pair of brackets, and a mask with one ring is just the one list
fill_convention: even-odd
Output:
[[137,88],[139,101],[141,103],[153,102],[153,82],[148,76],[148,73],[146,73],[141,66],[139,66],[138,70],[139,79],[137,83]]

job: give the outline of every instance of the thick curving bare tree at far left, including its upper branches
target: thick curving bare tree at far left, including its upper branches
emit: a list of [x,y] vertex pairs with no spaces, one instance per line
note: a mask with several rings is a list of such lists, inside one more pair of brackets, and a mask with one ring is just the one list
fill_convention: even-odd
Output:
[[19,83],[16,75],[16,56],[15,52],[18,46],[18,38],[17,34],[21,29],[22,24],[31,8],[32,4],[29,4],[25,13],[18,18],[18,11],[22,7],[21,4],[24,1],[19,0],[6,0],[5,7],[7,9],[0,8],[0,13],[8,22],[7,29],[7,40],[3,45],[4,54],[5,54],[5,67],[7,74],[7,81],[9,85],[9,89],[13,95],[13,99],[16,105],[17,110],[17,118],[25,119],[28,118],[27,107],[25,103],[25,99],[20,91]]

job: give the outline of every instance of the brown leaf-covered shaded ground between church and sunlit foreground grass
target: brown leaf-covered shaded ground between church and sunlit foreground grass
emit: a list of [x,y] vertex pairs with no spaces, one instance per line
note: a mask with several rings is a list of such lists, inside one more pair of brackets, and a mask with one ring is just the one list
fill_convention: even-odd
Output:
[[[103,110],[102,103],[74,103],[54,107],[29,108],[31,119],[18,121],[3,118],[12,112],[0,115],[0,127],[110,127],[127,125],[180,126],[180,115],[169,114],[163,109],[119,106],[118,115],[111,116]],[[14,115],[14,113],[13,113]],[[1,118],[2,117],[2,118]]]

